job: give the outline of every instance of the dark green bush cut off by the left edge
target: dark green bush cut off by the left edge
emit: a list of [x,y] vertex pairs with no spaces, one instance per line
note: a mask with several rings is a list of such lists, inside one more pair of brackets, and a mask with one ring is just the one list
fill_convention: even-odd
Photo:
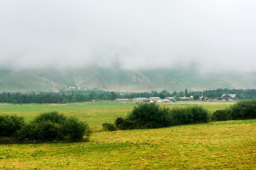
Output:
[[19,116],[0,115],[0,137],[13,137],[24,125],[24,118]]

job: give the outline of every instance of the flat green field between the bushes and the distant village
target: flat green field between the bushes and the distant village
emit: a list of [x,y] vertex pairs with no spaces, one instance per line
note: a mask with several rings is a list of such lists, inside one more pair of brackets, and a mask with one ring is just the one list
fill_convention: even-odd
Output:
[[[224,102],[197,102],[182,101],[176,103],[161,103],[161,105],[172,107],[183,107],[187,105],[200,104],[209,112],[229,107],[233,101]],[[23,116],[26,121],[36,115],[57,110],[66,116],[76,116],[86,121],[90,126],[101,127],[102,123],[114,122],[117,117],[125,117],[132,110],[135,102],[99,102],[99,103],[74,103],[74,104],[0,104],[0,114],[16,114]]]

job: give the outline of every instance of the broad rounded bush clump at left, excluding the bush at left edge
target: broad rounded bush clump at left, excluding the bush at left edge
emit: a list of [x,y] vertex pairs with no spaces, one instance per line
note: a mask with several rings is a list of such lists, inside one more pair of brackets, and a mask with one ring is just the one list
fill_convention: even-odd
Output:
[[88,141],[91,129],[75,117],[66,118],[55,111],[42,113],[17,131],[21,143],[40,143],[54,140]]

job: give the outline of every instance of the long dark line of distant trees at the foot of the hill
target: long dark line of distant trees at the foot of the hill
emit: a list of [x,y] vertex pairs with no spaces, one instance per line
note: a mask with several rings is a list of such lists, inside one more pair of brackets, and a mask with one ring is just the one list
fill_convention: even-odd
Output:
[[160,97],[161,99],[165,97],[190,97],[194,96],[194,99],[199,99],[201,95],[205,95],[208,98],[211,97],[221,97],[222,94],[237,94],[239,99],[255,99],[256,90],[255,89],[216,89],[216,90],[204,90],[204,91],[190,91],[188,92],[185,89],[185,92],[180,91],[170,93],[166,90],[158,93],[157,91],[152,90],[151,92],[141,92],[141,93],[120,93],[120,92],[109,92],[109,91],[88,91],[88,94],[81,93],[54,93],[41,92],[36,94],[35,92],[29,94],[23,94],[21,92],[10,93],[2,92],[0,93],[0,103],[73,103],[73,102],[87,102],[92,99],[96,100],[114,100],[116,98],[132,99],[136,97]]

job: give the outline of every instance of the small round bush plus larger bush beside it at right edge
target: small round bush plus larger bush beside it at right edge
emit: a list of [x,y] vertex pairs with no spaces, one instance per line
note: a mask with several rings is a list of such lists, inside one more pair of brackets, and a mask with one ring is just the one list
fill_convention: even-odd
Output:
[[256,118],[256,99],[239,100],[230,107],[213,113],[213,119],[217,121],[253,118]]

